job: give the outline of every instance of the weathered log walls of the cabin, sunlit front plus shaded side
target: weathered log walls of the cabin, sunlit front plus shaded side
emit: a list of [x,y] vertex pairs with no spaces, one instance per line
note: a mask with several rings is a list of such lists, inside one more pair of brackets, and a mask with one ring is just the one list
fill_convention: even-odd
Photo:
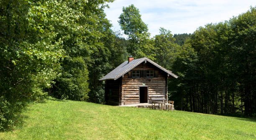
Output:
[[[142,63],[133,70],[140,70],[140,78],[129,78],[128,73],[117,80],[107,80],[105,84],[105,99],[108,104],[125,105],[140,102],[140,86],[147,86],[148,98],[163,95],[167,98],[167,74],[150,63]],[[154,70],[154,77],[145,77],[146,70]],[[156,72],[156,73],[155,73]],[[144,91],[143,91],[144,92]]]

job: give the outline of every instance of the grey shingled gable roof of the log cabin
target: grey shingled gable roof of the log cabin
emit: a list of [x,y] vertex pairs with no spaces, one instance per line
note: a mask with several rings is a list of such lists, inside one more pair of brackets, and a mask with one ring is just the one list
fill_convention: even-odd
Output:
[[174,78],[178,78],[178,76],[173,74],[172,71],[164,69],[159,64],[156,64],[156,62],[154,62],[154,61],[152,61],[152,60],[150,60],[146,57],[143,57],[143,58],[140,58],[140,59],[134,59],[133,61],[130,61],[130,63],[128,63],[128,61],[123,62],[118,67],[116,67],[113,71],[110,71],[110,73],[108,73],[107,75],[102,77],[100,80],[116,80],[116,79],[120,78],[121,76],[126,74],[128,71],[132,70],[133,68],[135,68],[136,66],[138,66],[139,64],[141,64],[144,61],[147,61],[147,62],[153,64],[154,66],[163,70],[167,74],[170,74]]

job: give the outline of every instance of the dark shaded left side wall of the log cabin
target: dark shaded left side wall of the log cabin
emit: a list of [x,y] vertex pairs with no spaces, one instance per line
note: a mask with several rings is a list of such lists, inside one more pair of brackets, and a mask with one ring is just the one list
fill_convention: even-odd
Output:
[[108,105],[120,105],[120,87],[121,79],[105,81],[105,101]]

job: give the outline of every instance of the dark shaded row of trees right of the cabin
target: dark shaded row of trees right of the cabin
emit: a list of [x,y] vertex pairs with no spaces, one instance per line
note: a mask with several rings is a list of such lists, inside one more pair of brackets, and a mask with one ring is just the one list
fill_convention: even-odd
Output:
[[178,109],[211,114],[256,113],[256,8],[199,27],[172,70],[170,98]]

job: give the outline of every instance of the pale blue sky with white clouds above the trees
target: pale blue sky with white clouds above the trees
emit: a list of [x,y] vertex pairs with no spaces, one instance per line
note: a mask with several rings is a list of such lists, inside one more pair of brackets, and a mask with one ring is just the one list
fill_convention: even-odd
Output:
[[182,34],[193,33],[208,23],[224,22],[256,6],[256,0],[115,0],[105,9],[113,31],[123,34],[118,17],[122,8],[131,4],[139,9],[142,21],[154,37],[160,27],[172,34]]

